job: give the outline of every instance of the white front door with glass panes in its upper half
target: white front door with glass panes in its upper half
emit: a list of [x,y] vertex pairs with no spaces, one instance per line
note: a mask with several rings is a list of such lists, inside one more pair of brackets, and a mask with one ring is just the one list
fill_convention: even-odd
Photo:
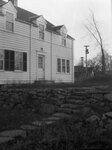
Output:
[[38,79],[44,80],[45,79],[45,56],[38,55]]

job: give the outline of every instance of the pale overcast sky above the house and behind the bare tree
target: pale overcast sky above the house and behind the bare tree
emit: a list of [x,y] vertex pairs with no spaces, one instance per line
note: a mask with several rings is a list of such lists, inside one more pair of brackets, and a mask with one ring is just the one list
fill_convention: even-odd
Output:
[[92,10],[98,24],[101,25],[105,49],[111,52],[110,0],[18,0],[18,5],[38,15],[43,15],[54,25],[64,24],[68,34],[76,39],[74,42],[75,62],[80,60],[80,57],[84,57],[84,45],[90,45],[88,58],[98,52],[95,50],[94,42],[88,39],[84,28]]

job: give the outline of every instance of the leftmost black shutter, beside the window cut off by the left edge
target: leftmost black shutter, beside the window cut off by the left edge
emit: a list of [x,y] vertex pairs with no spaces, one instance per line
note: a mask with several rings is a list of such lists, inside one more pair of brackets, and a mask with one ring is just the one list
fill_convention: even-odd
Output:
[[5,50],[4,58],[5,58],[4,69],[6,71],[9,71],[10,70],[10,65],[9,65],[9,62],[10,62],[10,51]]

